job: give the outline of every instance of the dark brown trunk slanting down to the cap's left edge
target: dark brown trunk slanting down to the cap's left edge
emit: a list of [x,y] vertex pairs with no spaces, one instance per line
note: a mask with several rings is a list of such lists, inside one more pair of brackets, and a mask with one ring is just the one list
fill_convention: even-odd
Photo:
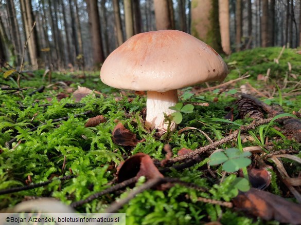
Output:
[[104,61],[104,56],[97,0],[88,0],[87,7],[89,20],[91,22],[94,67],[99,69],[100,64]]

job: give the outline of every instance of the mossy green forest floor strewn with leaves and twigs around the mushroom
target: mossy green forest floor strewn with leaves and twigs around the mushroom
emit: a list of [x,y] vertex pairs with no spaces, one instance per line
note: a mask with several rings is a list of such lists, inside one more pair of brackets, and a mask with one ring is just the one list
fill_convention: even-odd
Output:
[[224,59],[222,85],[178,91],[194,108],[163,136],[144,126],[146,94],[99,72],[52,72],[50,84],[27,72],[21,91],[2,68],[0,209],[38,199],[48,211],[126,213],[127,224],[301,224],[301,50]]

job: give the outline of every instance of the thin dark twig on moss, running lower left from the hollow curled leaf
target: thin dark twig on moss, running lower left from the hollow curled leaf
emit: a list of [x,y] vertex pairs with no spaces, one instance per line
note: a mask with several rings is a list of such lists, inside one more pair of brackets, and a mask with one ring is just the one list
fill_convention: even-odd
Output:
[[115,186],[112,186],[112,187],[110,187],[108,189],[105,189],[105,190],[103,190],[101,192],[97,192],[97,193],[95,193],[93,195],[90,195],[89,197],[87,197],[84,200],[72,202],[70,204],[70,206],[73,207],[73,208],[82,206],[84,203],[90,202],[90,201],[92,201],[92,200],[94,200],[96,198],[99,198],[102,195],[109,194],[111,192],[118,191],[118,190],[120,190],[122,188],[128,187],[129,185],[131,185],[132,183],[135,183],[136,181],[137,181],[137,177],[133,177],[131,179],[125,180],[125,181],[123,181],[121,183],[118,183]]

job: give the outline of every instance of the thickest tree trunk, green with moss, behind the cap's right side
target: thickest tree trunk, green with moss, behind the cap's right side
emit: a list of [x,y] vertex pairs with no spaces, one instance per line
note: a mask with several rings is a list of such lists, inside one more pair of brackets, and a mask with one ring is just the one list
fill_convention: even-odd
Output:
[[222,52],[218,0],[192,0],[191,34]]

